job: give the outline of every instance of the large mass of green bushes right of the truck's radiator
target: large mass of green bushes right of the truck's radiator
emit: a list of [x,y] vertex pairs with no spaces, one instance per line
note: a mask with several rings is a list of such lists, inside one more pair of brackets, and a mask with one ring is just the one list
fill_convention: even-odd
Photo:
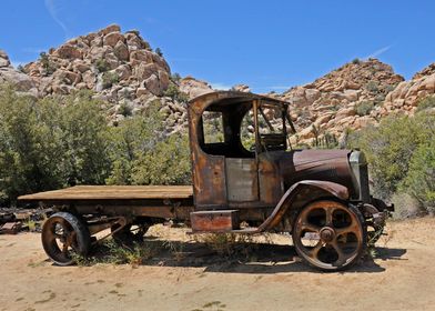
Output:
[[408,193],[417,200],[418,204],[402,204],[401,217],[435,212],[434,136],[434,113],[392,116],[348,136],[347,147],[360,147],[367,157],[376,197],[390,200]]

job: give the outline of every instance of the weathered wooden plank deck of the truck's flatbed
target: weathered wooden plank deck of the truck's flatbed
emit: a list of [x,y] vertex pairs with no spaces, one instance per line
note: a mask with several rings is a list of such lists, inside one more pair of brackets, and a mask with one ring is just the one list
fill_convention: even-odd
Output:
[[189,199],[191,185],[77,185],[21,195],[20,201]]

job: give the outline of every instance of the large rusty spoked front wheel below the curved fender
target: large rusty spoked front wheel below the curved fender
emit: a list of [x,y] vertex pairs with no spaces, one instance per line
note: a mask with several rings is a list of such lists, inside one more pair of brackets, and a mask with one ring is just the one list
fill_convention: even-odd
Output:
[[335,201],[316,201],[301,210],[293,225],[297,253],[322,270],[341,270],[356,262],[366,247],[361,212]]

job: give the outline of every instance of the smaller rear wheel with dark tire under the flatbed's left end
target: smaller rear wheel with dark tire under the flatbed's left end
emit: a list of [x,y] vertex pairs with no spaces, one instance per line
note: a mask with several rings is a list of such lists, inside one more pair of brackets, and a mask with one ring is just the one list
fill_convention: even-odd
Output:
[[87,225],[67,212],[54,213],[45,221],[41,239],[45,253],[59,265],[72,264],[73,255],[85,255],[91,244]]

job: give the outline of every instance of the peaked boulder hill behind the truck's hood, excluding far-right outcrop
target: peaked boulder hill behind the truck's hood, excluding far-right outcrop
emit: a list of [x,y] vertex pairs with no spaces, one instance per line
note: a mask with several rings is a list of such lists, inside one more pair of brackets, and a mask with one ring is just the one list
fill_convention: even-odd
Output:
[[388,64],[368,59],[290,89],[281,98],[291,102],[291,118],[299,128],[293,142],[311,144],[325,134],[340,140],[347,129],[377,123],[388,113],[383,107],[385,98],[403,81]]

